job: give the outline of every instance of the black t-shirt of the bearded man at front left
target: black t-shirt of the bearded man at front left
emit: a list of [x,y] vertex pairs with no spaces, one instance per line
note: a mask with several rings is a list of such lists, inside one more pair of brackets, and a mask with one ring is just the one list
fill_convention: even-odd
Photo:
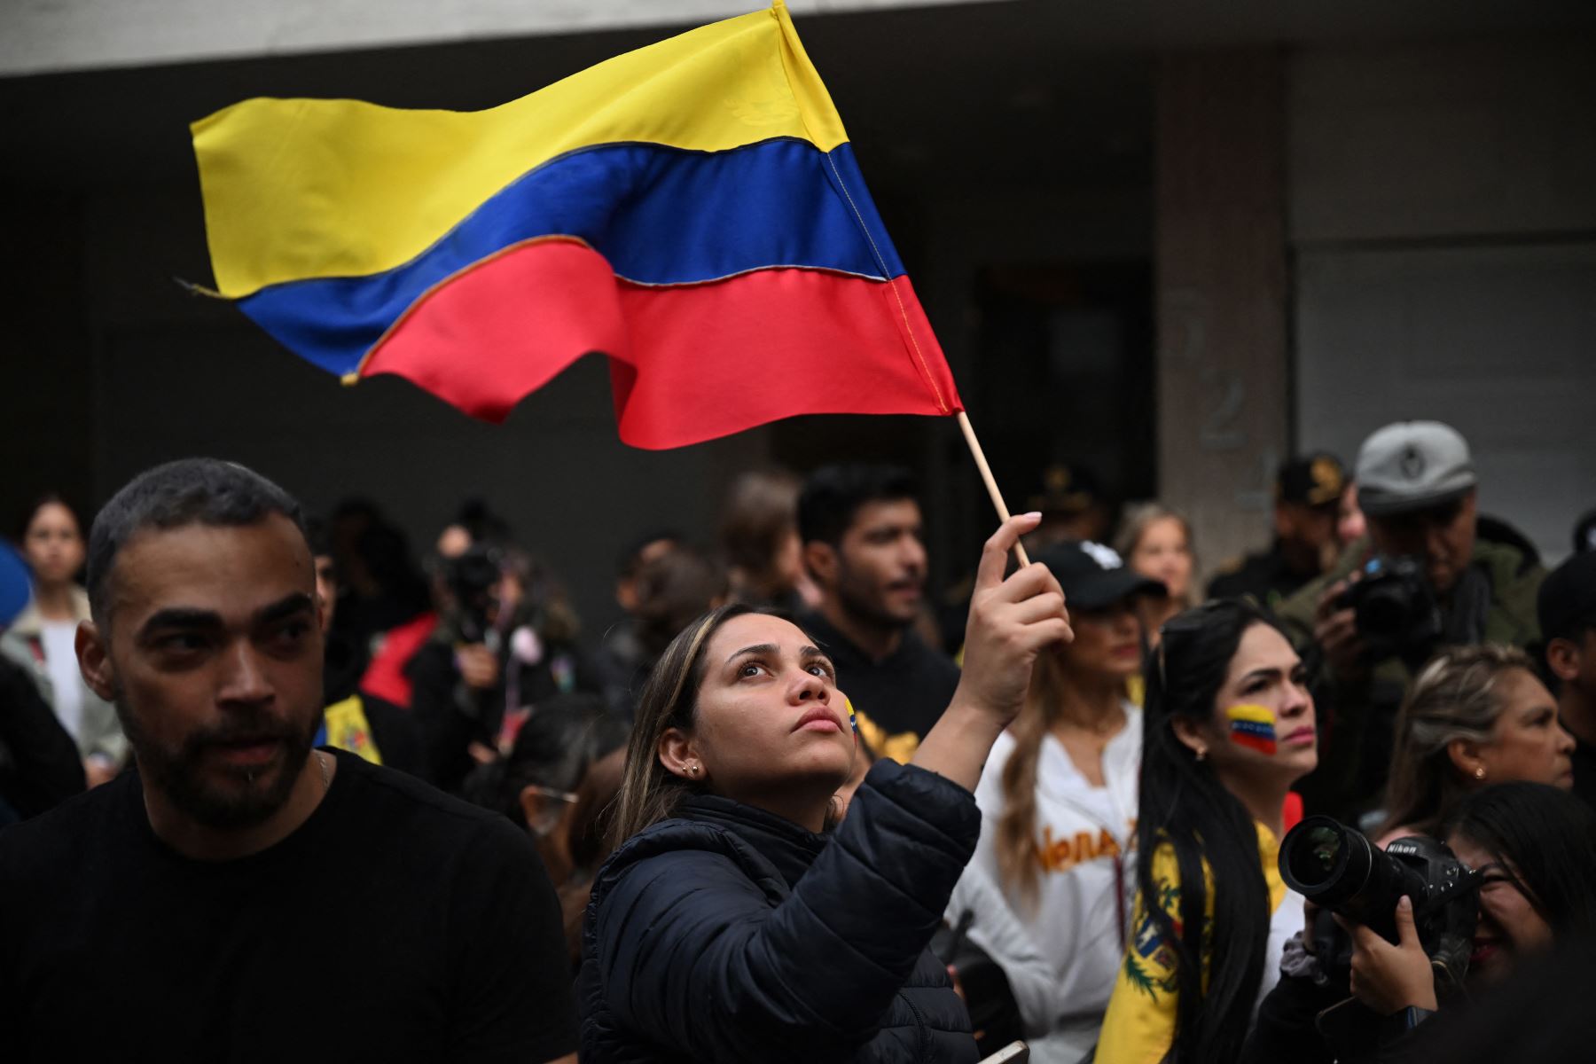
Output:
[[0,833],[0,1059],[551,1061],[560,908],[508,820],[337,753],[282,842],[195,861],[128,772]]

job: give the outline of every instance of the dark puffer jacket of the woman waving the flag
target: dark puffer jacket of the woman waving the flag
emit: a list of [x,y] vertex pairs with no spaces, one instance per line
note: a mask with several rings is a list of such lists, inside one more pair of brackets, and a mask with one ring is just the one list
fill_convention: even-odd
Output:
[[926,944],[978,834],[969,791],[889,761],[827,836],[689,798],[594,882],[583,1064],[975,1061]]

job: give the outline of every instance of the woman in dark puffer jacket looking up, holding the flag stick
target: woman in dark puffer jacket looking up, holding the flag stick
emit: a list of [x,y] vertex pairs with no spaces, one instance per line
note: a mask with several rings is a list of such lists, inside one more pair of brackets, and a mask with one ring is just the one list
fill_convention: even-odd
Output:
[[[980,833],[970,791],[1036,656],[1073,638],[1039,517],[986,542],[964,676],[908,766],[878,763],[832,828],[857,742],[796,625],[725,606],[666,651],[637,711],[583,936],[583,1061],[975,1061],[926,949]],[[627,837],[629,836],[629,837]]]

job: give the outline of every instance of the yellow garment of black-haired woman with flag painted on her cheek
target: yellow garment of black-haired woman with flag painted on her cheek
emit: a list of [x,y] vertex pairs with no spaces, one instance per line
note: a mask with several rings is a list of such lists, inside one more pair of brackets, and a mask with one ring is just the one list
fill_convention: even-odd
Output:
[[[1264,882],[1269,884],[1269,911],[1274,912],[1286,897],[1280,879],[1280,844],[1264,825],[1258,828],[1258,860]],[[1152,855],[1152,882],[1159,904],[1181,932],[1179,898],[1181,873],[1170,844],[1160,845]],[[1207,884],[1203,916],[1213,922],[1213,869],[1203,860]],[[1114,995],[1103,1018],[1103,1034],[1098,1038],[1096,1059],[1114,1064],[1159,1064],[1175,1043],[1175,1015],[1179,997],[1175,946],[1163,940],[1157,924],[1146,909],[1146,898],[1136,893],[1130,920],[1130,940],[1125,943],[1125,960],[1119,967]],[[1203,987],[1208,986],[1208,957],[1213,952],[1208,936],[1203,938]]]

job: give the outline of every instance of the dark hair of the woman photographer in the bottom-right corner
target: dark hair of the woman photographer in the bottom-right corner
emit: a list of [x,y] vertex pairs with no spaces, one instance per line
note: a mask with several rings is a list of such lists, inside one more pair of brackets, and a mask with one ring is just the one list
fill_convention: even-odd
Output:
[[1441,836],[1460,834],[1508,874],[1555,938],[1596,940],[1596,812],[1547,783],[1499,783],[1459,802]]

